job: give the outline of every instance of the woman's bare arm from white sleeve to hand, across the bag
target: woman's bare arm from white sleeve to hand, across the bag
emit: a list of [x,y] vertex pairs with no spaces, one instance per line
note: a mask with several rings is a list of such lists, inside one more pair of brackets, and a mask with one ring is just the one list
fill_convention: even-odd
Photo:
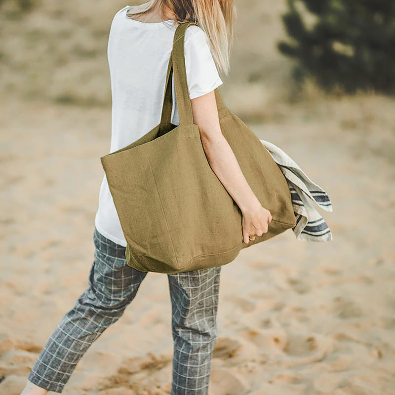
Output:
[[253,193],[222,134],[214,91],[192,99],[191,105],[207,160],[243,214],[243,241],[248,243],[249,236],[255,238],[268,231],[272,216]]

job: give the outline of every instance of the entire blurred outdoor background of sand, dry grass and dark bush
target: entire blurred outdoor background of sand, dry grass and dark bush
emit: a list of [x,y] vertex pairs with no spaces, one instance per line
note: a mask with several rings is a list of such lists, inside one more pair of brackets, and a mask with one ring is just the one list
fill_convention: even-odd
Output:
[[[125,5],[0,0],[0,394],[87,285]],[[224,100],[325,189],[333,240],[289,230],[222,268],[210,394],[394,395],[395,3],[236,5]],[[167,278],[149,273],[63,393],[170,394],[171,358]]]

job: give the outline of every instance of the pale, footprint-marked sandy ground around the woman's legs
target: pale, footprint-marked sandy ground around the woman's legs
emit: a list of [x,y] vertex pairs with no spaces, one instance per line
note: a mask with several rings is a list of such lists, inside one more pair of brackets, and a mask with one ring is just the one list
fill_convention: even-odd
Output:
[[[395,394],[393,107],[320,100],[250,124],[327,191],[334,211],[319,211],[333,240],[288,230],[223,266],[210,395]],[[1,108],[0,394],[14,395],[87,285],[110,113]],[[64,394],[169,394],[168,292],[167,277],[149,273]]]

